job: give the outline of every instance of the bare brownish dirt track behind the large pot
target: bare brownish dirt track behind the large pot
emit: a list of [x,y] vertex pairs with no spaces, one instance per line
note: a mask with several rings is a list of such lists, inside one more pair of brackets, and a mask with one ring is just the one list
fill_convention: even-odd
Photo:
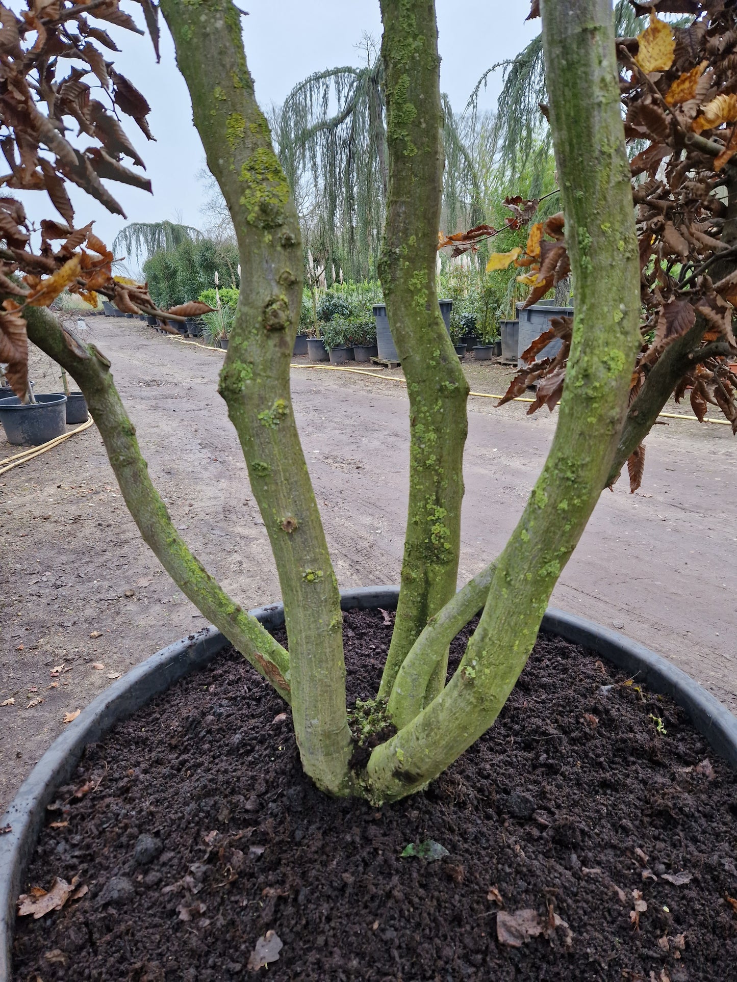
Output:
[[[278,600],[268,539],[216,391],[224,353],[136,320],[87,324],[189,545],[244,608]],[[401,369],[369,377],[295,361],[294,405],[338,581],[397,583],[409,440]],[[490,362],[464,370],[474,392],[502,393],[512,376]],[[32,346],[31,377],[38,392],[60,389],[58,369]],[[469,400],[460,582],[503,548],[557,421],[557,412],[527,416],[524,403],[494,402]],[[630,495],[625,476],[601,496],[552,604],[647,644],[734,711],[737,531],[725,516],[734,514],[737,440],[728,426],[667,422],[648,438],[642,492]],[[17,452],[0,429],[0,459]],[[203,624],[143,544],[96,427],[0,475],[0,703],[15,700],[0,706],[0,813],[66,713]]]

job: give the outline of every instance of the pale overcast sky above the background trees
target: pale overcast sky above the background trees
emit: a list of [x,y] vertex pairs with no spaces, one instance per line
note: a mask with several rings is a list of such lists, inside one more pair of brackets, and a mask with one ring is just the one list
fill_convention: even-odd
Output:
[[[138,4],[124,6],[142,23]],[[282,102],[293,85],[312,72],[361,64],[357,45],[365,31],[377,42],[381,37],[378,0],[240,0],[239,6],[249,11],[241,23],[256,96],[263,108]],[[529,10],[530,0],[437,0],[441,86],[456,110],[463,109],[487,68],[513,57],[539,31],[539,21],[525,24]],[[142,90],[151,106],[148,120],[156,137],[155,143],[149,143],[134,121],[123,117],[126,133],[145,161],[153,194],[121,184],[108,183],[108,187],[128,221],[179,219],[198,227],[203,189],[197,175],[204,152],[168,30],[162,21],[161,62],[157,65],[147,36],[105,27],[122,49],[121,54],[111,54],[117,70]],[[497,72],[482,97],[483,108],[494,108],[500,84],[501,72]],[[128,160],[126,164],[133,166]],[[56,217],[45,192],[22,196],[34,221]],[[74,187],[70,196],[77,209],[76,224],[95,219],[95,232],[111,245],[126,222]]]

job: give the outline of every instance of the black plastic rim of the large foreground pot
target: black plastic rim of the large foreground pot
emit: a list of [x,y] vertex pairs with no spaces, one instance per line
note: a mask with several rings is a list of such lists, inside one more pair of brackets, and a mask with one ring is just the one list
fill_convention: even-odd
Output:
[[[364,586],[341,590],[340,605],[343,610],[396,610],[398,597],[398,586]],[[280,603],[257,607],[250,613],[267,629],[284,624],[284,607]],[[616,630],[553,607],[545,612],[540,630],[594,650],[628,675],[637,676],[654,692],[671,696],[686,710],[711,748],[737,769],[737,717],[681,669]],[[229,643],[210,625],[161,648],[85,706],[30,772],[0,819],[0,828],[12,827],[11,832],[0,835],[0,979],[12,977],[16,900],[46,805],[72,776],[86,744],[131,716],[154,695],[206,665]]]

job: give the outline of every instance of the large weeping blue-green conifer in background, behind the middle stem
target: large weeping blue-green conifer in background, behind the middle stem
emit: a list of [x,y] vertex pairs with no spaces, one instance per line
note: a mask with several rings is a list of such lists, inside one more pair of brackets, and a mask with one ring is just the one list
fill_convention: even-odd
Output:
[[[376,275],[388,183],[384,65],[365,38],[366,65],[317,72],[270,116],[272,136],[300,212],[306,248],[351,279]],[[442,99],[448,227],[481,220],[481,194],[461,121]]]

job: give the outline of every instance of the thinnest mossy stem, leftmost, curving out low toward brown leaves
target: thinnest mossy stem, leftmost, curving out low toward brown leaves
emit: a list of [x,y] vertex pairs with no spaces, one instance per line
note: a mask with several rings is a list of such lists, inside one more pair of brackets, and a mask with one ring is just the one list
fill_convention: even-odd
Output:
[[85,346],[63,330],[48,310],[27,307],[25,316],[30,341],[65,368],[82,390],[123,500],[146,544],[207,620],[289,701],[288,653],[228,596],[177,532],[148,476],[136,427],[115,388],[110,362],[94,345]]

